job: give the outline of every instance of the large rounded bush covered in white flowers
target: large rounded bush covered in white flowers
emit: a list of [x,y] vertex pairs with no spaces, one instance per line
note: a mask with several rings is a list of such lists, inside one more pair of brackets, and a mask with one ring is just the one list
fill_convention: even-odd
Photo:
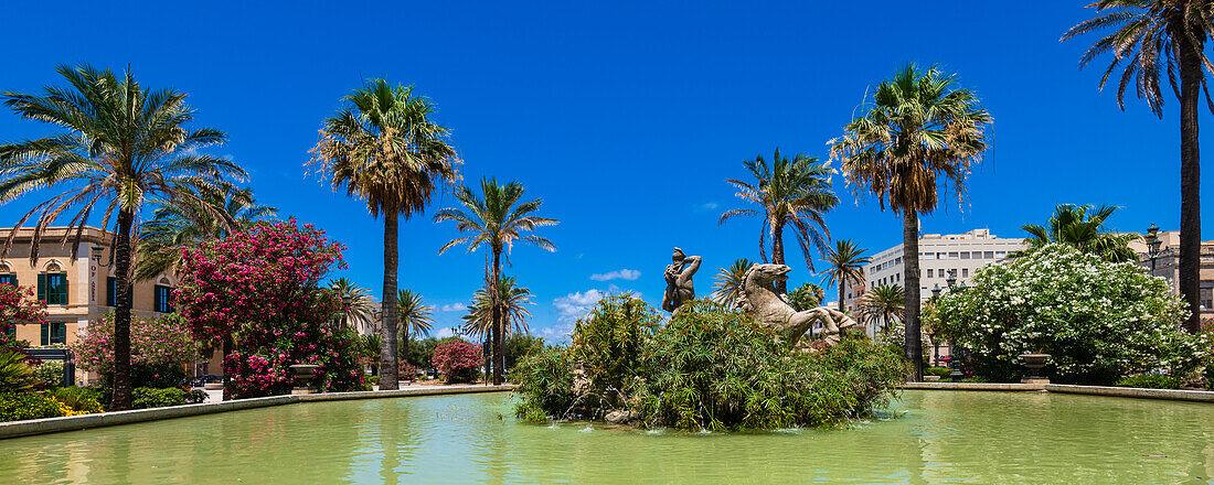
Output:
[[1186,315],[1165,279],[1051,244],[981,269],[926,319],[981,376],[1019,378],[1026,372],[1019,355],[1046,353],[1044,372],[1054,380],[1106,384],[1140,372],[1195,372],[1210,338],[1180,330]]

